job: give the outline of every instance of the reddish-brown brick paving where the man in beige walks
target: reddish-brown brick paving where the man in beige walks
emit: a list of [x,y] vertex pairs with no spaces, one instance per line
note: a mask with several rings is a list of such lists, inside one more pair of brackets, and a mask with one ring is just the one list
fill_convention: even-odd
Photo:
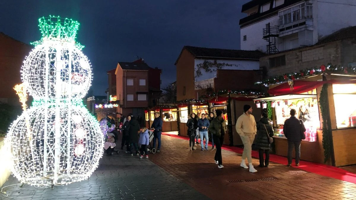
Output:
[[353,183],[271,162],[250,173],[240,167],[241,155],[225,150],[225,168],[219,169],[210,146],[209,151],[200,151],[200,146],[189,151],[188,146],[187,140],[162,135],[162,151],[150,160],[210,199],[356,199]]

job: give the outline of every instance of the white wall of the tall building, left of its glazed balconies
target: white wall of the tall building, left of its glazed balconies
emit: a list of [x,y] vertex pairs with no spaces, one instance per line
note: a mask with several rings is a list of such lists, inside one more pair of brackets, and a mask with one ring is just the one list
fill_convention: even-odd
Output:
[[[278,25],[278,15],[270,17],[268,19],[253,23],[240,29],[240,49],[241,50],[260,50],[266,52],[266,45],[268,42],[263,40],[263,28],[266,28],[267,23],[271,23],[270,26]],[[244,41],[244,35],[246,35],[246,41]]]

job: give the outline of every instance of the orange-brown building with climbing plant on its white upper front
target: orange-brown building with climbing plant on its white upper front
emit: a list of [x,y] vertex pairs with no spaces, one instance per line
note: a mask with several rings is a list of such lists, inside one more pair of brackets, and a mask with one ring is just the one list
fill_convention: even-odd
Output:
[[259,89],[254,83],[262,78],[262,56],[260,51],[184,46],[175,63],[177,100],[199,99],[224,89]]

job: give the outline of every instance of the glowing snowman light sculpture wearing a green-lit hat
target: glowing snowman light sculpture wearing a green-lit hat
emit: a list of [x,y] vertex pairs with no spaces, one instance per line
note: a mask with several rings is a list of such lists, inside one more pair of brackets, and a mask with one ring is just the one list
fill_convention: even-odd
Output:
[[42,39],[21,71],[33,105],[24,106],[6,140],[14,176],[48,187],[88,179],[103,155],[103,134],[82,103],[92,77],[84,46],[75,42],[79,23],[54,16],[39,23]]

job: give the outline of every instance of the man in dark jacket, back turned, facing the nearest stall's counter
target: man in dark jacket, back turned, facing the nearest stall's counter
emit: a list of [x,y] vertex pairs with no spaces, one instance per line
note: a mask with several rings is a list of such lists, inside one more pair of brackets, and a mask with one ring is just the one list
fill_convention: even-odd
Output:
[[305,132],[303,120],[295,117],[295,110],[290,110],[290,118],[284,122],[283,133],[288,140],[288,167],[292,166],[292,152],[295,149],[295,165],[299,166],[300,143]]

